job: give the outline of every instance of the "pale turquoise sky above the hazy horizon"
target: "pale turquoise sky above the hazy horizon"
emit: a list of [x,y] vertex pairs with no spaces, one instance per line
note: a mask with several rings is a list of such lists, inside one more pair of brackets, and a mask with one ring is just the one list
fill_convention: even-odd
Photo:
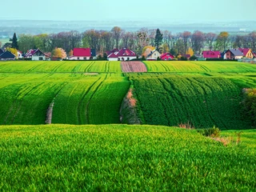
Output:
[[256,0],[11,0],[0,19],[54,21],[256,20]]

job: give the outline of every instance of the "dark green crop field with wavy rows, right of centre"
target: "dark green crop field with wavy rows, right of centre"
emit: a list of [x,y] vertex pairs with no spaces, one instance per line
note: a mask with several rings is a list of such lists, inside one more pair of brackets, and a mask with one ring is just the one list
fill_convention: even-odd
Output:
[[[127,76],[129,74],[126,74]],[[138,114],[144,124],[197,128],[218,126],[222,130],[248,129],[242,116],[242,90],[230,79],[151,74],[130,74]]]

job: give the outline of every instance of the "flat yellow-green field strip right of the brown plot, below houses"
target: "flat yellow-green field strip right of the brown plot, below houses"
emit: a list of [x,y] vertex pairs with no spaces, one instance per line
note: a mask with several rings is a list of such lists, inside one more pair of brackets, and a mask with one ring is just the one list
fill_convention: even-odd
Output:
[[256,72],[256,66],[242,62],[144,62],[148,72],[175,73],[248,73]]

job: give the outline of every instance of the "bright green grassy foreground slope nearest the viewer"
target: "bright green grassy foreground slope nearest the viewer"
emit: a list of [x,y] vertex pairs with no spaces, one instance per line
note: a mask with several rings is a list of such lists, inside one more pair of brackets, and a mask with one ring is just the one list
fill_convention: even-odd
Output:
[[[255,130],[254,130],[255,133]],[[166,126],[0,126],[0,190],[250,191],[254,151]]]

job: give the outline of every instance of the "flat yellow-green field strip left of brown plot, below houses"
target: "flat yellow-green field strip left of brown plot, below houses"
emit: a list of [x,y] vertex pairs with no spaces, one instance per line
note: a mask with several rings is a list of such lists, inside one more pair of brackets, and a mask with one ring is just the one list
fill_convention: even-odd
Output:
[[0,62],[0,73],[121,73],[120,62],[58,61],[58,62]]

